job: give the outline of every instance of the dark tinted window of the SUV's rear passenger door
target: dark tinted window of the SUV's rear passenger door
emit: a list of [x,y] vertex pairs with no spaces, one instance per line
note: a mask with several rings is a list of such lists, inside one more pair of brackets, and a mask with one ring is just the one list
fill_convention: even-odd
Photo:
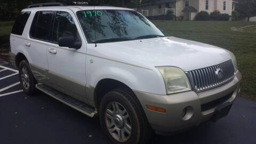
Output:
[[52,11],[36,12],[30,28],[30,37],[49,41],[52,15]]

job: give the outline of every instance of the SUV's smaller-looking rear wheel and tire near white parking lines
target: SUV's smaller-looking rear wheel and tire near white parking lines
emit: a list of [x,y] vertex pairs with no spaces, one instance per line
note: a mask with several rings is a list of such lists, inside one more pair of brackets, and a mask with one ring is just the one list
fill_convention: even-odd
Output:
[[22,60],[19,64],[19,78],[21,87],[27,95],[35,95],[37,93],[37,82],[27,60]]

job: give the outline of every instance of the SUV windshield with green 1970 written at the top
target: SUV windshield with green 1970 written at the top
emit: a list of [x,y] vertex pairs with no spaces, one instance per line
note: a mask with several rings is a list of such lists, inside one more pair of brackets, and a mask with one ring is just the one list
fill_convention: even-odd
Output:
[[88,43],[164,37],[153,23],[136,11],[86,10],[76,14]]

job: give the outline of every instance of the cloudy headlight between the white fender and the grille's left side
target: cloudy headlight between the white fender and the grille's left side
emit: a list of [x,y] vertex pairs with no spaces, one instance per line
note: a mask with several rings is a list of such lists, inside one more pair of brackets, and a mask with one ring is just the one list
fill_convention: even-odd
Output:
[[163,75],[167,94],[191,90],[188,77],[180,68],[157,67],[157,69]]

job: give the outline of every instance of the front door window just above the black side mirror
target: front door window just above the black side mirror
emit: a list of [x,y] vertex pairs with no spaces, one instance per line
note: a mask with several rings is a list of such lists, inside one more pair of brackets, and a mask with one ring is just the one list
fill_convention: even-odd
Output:
[[73,36],[80,39],[75,22],[67,12],[57,12],[53,25],[53,41],[59,41],[60,37]]

